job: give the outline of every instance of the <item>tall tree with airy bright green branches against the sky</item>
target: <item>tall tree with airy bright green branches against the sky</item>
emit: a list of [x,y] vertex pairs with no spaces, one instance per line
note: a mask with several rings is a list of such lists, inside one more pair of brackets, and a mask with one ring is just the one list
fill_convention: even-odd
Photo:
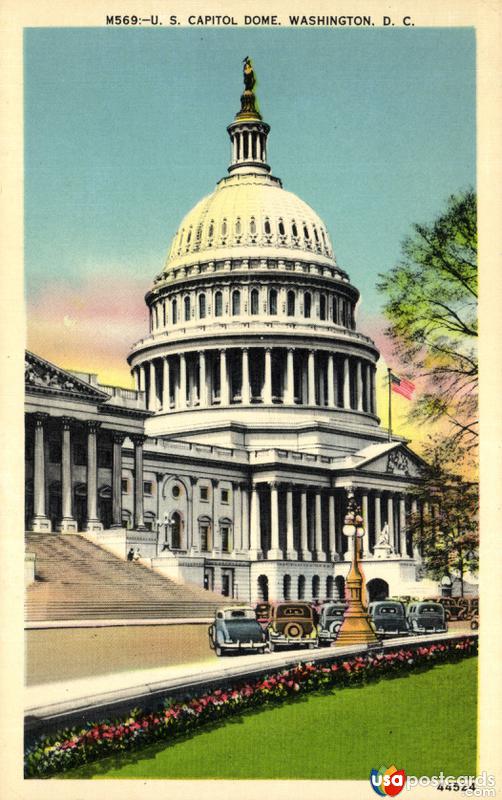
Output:
[[394,355],[410,378],[423,378],[411,417],[447,420],[448,437],[477,444],[476,195],[453,195],[430,225],[414,225],[402,259],[380,275]]

